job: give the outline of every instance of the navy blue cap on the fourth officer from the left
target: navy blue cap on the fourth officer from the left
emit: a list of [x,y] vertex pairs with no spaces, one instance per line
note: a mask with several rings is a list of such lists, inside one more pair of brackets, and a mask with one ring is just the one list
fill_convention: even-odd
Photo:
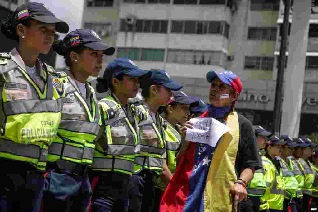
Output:
[[183,87],[182,85],[176,84],[165,70],[150,69],[150,71],[151,77],[146,80],[141,80],[141,88],[145,88],[149,85],[163,85],[172,91],[179,91]]

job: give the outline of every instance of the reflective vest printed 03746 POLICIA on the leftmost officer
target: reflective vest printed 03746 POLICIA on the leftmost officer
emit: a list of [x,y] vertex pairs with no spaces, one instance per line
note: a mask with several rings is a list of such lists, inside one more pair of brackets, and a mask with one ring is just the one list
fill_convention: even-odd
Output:
[[64,85],[40,60],[34,81],[16,49],[0,53],[0,61],[0,158],[45,171],[47,149],[61,118]]

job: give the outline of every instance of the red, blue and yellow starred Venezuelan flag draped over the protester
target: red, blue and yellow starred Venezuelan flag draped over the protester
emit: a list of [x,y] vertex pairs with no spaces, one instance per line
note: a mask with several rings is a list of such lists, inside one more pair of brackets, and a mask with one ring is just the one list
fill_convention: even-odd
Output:
[[[208,117],[208,112],[201,117]],[[235,157],[239,147],[239,120],[235,111],[226,125],[231,129],[216,148],[191,142],[162,197],[160,212],[228,212],[230,188],[237,180]]]

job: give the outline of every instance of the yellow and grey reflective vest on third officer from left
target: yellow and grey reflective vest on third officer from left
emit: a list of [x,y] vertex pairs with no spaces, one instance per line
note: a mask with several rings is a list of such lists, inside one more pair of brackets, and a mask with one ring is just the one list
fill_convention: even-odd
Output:
[[99,106],[105,127],[100,139],[95,142],[91,169],[132,175],[135,156],[140,153],[138,123],[147,115],[130,103],[122,107],[114,94],[107,94],[99,101]]

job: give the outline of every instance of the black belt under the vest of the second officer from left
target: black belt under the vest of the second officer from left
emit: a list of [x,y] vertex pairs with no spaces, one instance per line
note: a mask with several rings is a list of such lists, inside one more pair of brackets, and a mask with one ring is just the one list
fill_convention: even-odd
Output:
[[65,161],[58,159],[56,161],[56,166],[60,170],[66,170],[73,174],[76,174],[78,176],[86,177],[89,171],[90,165],[84,165],[84,164],[76,164],[70,161]]

